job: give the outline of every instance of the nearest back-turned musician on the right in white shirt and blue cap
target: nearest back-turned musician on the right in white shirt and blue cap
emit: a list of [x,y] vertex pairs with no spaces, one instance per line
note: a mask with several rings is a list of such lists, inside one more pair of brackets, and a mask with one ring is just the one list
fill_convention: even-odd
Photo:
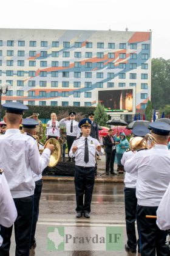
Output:
[[170,181],[170,152],[167,148],[170,126],[162,122],[149,124],[157,144],[149,150],[136,152],[124,163],[126,172],[137,174],[137,223],[140,232],[141,256],[169,255],[165,244],[166,232],[158,228],[155,219],[146,215],[156,215],[161,197]]

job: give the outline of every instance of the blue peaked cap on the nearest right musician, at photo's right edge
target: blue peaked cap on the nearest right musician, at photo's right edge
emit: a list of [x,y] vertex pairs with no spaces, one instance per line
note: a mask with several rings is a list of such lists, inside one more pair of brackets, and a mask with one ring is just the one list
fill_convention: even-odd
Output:
[[159,122],[159,121],[149,124],[149,127],[152,128],[152,133],[155,133],[161,136],[168,136],[170,132],[169,124]]

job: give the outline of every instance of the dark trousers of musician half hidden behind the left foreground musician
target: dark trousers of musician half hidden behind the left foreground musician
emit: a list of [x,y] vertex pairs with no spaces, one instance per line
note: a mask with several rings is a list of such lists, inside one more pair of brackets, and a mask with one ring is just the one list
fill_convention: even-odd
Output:
[[35,244],[35,230],[36,230],[36,222],[38,221],[38,214],[39,214],[39,199],[41,197],[41,190],[42,190],[42,180],[37,180],[35,182],[35,190],[33,195],[33,221],[32,221],[32,233],[31,233],[31,241],[30,247]]

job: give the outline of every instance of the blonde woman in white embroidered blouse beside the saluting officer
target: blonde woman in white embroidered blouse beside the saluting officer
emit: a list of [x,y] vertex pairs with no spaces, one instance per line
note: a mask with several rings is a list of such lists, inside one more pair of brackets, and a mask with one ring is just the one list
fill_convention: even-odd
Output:
[[46,126],[46,137],[49,138],[56,138],[57,140],[60,138],[60,124],[56,121],[56,113],[51,113],[51,120],[48,121]]

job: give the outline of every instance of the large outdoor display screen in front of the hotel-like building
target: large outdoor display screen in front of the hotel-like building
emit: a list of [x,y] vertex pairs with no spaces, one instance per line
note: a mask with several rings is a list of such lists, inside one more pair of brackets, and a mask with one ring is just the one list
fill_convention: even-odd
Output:
[[98,102],[106,112],[132,112],[133,90],[98,91]]

